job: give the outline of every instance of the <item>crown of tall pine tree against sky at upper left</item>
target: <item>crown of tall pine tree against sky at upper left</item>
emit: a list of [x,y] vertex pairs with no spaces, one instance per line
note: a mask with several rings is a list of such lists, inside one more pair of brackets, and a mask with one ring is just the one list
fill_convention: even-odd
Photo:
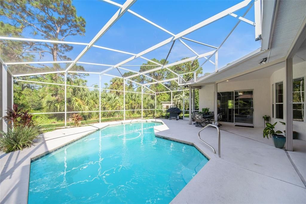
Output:
[[[76,8],[71,0],[8,0],[0,2],[0,16],[5,17],[12,25],[5,28],[20,34],[21,30],[31,31],[34,37],[47,40],[65,40],[68,36],[84,35],[85,19],[76,15]],[[39,54],[42,59],[45,53],[52,55],[53,60],[70,60],[65,53],[73,49],[68,44],[50,44],[44,42],[22,43],[23,51],[16,53],[23,56],[27,53]]]

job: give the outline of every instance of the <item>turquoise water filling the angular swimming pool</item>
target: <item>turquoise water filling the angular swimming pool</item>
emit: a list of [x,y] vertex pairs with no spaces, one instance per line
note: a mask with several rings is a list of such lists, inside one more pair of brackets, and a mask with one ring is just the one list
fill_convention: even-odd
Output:
[[28,203],[169,203],[208,160],[157,125],[109,126],[33,161]]

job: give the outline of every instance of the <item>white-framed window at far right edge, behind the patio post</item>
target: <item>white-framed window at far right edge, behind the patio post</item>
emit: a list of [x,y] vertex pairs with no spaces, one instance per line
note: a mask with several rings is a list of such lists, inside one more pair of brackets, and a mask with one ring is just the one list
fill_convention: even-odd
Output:
[[304,77],[293,79],[293,120],[304,121],[305,88]]

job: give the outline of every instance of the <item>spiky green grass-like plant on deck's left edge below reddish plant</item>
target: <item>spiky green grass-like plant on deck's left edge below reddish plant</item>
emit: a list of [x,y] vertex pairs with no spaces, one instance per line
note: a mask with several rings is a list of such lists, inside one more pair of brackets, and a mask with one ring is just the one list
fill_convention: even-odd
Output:
[[0,150],[9,153],[16,150],[22,150],[30,147],[34,142],[33,140],[40,139],[40,127],[32,126],[17,126],[14,130],[9,129],[7,132],[0,131],[3,135],[0,138]]

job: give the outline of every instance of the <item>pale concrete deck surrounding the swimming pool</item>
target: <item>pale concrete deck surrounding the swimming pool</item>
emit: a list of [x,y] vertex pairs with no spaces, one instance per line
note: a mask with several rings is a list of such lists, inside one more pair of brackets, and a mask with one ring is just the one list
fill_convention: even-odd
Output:
[[[124,123],[140,120],[126,120]],[[221,157],[198,138],[200,128],[186,120],[162,121],[155,127],[161,137],[192,143],[210,161],[196,174],[172,203],[305,203],[306,187],[298,175],[306,175],[306,141],[294,140],[297,151],[288,152],[273,146],[262,137],[262,128],[234,127],[223,124]],[[96,123],[91,126],[54,130],[43,134],[43,140],[31,148],[1,153],[1,203],[27,203],[31,158],[56,149],[100,128],[121,122]],[[206,128],[201,138],[218,151],[215,128]]]

